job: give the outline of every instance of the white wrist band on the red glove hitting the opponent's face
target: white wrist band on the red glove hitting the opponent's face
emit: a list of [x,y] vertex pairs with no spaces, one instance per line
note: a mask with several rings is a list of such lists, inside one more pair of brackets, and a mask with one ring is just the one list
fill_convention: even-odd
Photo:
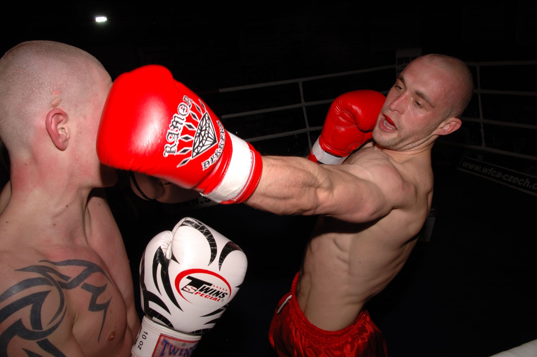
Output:
[[253,152],[248,143],[229,133],[231,137],[231,160],[222,182],[213,190],[202,196],[215,202],[235,201],[241,196],[252,178]]

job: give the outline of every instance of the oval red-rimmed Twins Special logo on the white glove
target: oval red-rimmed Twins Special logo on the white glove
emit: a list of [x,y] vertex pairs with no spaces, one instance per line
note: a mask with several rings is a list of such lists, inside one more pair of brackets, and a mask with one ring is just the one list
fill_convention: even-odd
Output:
[[179,273],[175,278],[175,288],[186,301],[197,305],[226,302],[231,296],[228,281],[206,269],[188,269]]

